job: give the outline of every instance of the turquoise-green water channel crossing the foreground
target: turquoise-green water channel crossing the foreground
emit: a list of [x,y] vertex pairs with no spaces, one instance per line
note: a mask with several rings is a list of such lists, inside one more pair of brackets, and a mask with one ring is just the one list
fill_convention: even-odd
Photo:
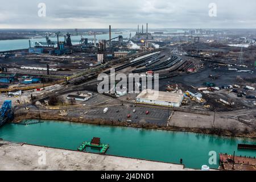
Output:
[[[77,150],[82,142],[90,141],[93,137],[100,137],[102,143],[110,144],[106,153],[109,155],[169,163],[179,163],[183,159],[185,167],[197,169],[203,164],[218,168],[219,152],[233,154],[236,151],[236,155],[255,156],[253,150],[237,150],[237,144],[256,144],[255,139],[248,138],[63,121],[44,121],[27,126],[7,123],[0,129],[0,138],[4,140],[69,150]],[[216,151],[217,164],[209,165],[210,151]]]

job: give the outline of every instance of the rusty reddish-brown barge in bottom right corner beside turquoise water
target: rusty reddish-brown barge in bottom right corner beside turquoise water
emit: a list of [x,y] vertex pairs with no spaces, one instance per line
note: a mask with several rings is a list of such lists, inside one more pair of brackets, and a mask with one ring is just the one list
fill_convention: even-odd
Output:
[[256,159],[254,157],[220,155],[220,169],[226,171],[256,171]]

